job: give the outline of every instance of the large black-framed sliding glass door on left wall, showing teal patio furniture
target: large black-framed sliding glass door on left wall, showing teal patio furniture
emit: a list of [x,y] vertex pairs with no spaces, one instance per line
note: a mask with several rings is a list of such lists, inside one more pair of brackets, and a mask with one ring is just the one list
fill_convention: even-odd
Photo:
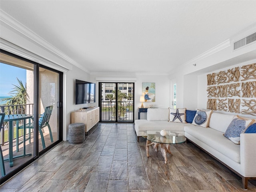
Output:
[[62,72],[1,50],[1,183],[62,141],[62,79]]

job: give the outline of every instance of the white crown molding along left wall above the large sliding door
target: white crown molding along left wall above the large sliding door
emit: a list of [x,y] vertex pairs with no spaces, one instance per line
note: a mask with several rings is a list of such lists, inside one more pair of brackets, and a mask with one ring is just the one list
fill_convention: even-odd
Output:
[[52,52],[56,56],[66,60],[68,63],[84,70],[88,74],[90,73],[88,70],[86,70],[83,66],[78,64],[76,61],[74,61],[72,58],[58,50],[56,47],[52,46],[49,42],[41,38],[39,35],[37,35],[35,32],[18,22],[16,19],[14,19],[12,16],[4,12],[3,10],[0,9],[0,20],[13,30],[16,30],[23,36],[26,36],[28,39],[32,40],[32,42],[35,42],[39,46],[42,46],[44,49],[48,50],[49,52]]

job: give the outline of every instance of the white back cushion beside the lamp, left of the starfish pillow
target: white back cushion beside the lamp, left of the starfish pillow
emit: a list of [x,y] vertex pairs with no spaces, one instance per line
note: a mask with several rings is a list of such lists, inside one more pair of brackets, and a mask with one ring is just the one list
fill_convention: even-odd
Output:
[[148,108],[147,111],[148,121],[167,121],[169,120],[168,108]]

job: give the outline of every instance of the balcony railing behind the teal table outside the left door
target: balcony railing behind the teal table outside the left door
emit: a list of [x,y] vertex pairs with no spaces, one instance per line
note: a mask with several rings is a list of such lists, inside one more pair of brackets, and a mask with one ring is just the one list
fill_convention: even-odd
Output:
[[[6,115],[10,114],[33,114],[34,110],[34,104],[20,104],[20,105],[1,105],[0,106],[0,111],[2,113],[5,113]],[[4,122],[3,127],[4,130],[1,131],[0,134],[0,144],[4,145],[7,142],[9,142],[9,137],[5,138],[6,133],[8,134],[9,132],[9,127],[10,127],[10,122]],[[16,122],[11,122],[13,123],[13,138],[16,139],[16,135],[19,135],[20,137],[23,137],[23,132],[20,132],[19,134],[16,133]],[[23,121],[19,122],[19,126],[23,124]]]

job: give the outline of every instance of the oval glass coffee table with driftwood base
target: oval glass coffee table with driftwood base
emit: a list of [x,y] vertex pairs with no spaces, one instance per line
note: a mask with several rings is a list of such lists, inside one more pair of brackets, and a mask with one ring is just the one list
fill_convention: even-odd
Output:
[[170,152],[170,144],[178,144],[178,143],[184,143],[186,141],[186,137],[182,134],[166,131],[166,136],[161,136],[159,130],[150,130],[150,131],[144,131],[144,136],[147,140],[146,142],[146,153],[147,157],[149,157],[149,146],[154,145],[154,149],[156,152],[158,152],[158,146],[161,148],[162,155],[164,157],[164,163],[167,163],[167,157],[166,153],[169,153],[172,155],[172,152]]

